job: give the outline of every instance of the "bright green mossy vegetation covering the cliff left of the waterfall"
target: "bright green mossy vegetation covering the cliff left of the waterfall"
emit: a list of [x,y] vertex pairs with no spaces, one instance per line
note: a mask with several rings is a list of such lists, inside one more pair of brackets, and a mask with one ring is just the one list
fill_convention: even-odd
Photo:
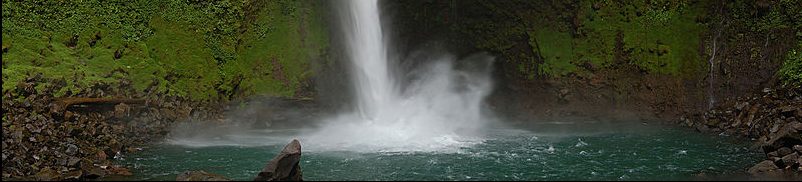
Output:
[[57,97],[121,84],[140,95],[198,101],[292,97],[328,45],[319,6],[290,0],[4,0],[3,92],[41,73],[65,81]]

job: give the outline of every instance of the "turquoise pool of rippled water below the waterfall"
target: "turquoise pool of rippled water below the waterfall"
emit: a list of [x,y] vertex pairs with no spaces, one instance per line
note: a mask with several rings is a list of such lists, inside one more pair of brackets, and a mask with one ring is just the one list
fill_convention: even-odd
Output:
[[[449,153],[304,151],[301,169],[305,180],[692,180],[699,173],[739,175],[762,157],[734,137],[671,126],[517,128],[523,129],[491,130],[484,142]],[[174,180],[188,170],[252,180],[281,147],[158,144],[119,164],[131,168],[131,180]]]

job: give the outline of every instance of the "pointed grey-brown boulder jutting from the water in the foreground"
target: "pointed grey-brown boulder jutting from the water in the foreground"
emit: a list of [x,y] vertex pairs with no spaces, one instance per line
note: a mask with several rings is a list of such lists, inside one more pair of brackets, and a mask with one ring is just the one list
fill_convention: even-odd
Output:
[[265,165],[254,181],[302,181],[301,143],[293,139]]

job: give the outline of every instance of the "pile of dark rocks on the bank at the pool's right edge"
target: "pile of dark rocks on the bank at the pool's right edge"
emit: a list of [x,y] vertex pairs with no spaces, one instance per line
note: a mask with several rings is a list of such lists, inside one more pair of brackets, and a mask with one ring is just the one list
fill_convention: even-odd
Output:
[[700,132],[751,139],[766,160],[749,168],[756,176],[800,177],[802,173],[802,89],[763,89],[725,101],[704,113],[686,114],[680,124]]

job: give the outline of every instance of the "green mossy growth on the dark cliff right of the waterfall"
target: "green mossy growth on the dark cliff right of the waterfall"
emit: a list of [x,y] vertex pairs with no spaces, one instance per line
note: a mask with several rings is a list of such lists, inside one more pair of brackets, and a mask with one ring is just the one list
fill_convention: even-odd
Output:
[[427,1],[414,6],[428,9],[413,10],[419,15],[413,18],[426,22],[421,23],[424,25],[450,25],[477,48],[512,62],[524,78],[592,74],[594,70],[587,65],[604,69],[614,64],[634,65],[655,74],[692,76],[704,71],[698,47],[707,25],[697,23],[706,15],[704,3],[469,1],[465,4],[471,5],[456,6],[460,14],[459,23],[454,24],[447,21],[452,10],[442,10],[453,8],[451,4]]

